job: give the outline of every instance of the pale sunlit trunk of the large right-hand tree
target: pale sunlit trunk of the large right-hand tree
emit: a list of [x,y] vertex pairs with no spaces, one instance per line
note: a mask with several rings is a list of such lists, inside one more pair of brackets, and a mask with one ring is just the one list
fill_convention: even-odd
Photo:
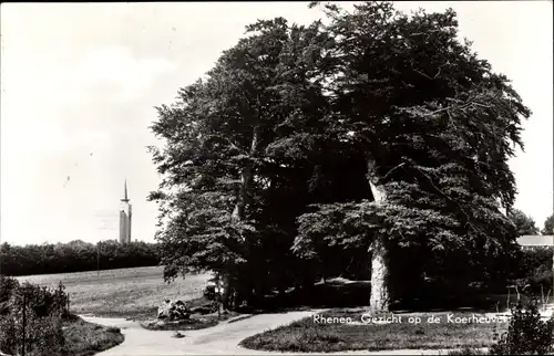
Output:
[[[379,182],[376,163],[368,159],[368,180],[373,200],[382,203],[387,199],[384,188]],[[389,251],[386,237],[378,233],[370,247],[371,251],[371,295],[369,299],[371,312],[388,312],[390,304],[389,287]]]

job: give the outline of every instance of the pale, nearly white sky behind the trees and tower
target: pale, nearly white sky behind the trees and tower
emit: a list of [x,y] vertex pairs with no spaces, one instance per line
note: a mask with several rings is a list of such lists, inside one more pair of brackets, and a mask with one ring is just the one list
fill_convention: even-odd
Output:
[[[117,239],[127,179],[133,240],[154,241],[160,177],[146,146],[155,106],[205,72],[257,19],[307,24],[308,2],[2,3],[0,240]],[[510,161],[515,208],[553,212],[551,1],[396,2],[459,15],[460,35],[513,81],[533,116]]]

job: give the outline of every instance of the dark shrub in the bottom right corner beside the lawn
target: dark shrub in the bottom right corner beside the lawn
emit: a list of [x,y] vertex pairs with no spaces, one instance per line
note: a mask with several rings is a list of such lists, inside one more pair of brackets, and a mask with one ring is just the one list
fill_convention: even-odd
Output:
[[507,332],[490,349],[491,355],[552,355],[554,352],[554,315],[541,320],[535,302],[512,307]]

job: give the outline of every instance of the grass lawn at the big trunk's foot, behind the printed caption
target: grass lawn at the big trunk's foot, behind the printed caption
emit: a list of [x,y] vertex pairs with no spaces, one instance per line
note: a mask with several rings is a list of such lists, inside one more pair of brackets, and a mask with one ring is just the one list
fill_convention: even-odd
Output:
[[[278,352],[345,352],[381,349],[440,349],[488,347],[493,343],[494,328],[503,332],[507,323],[462,323],[456,317],[471,317],[471,312],[407,313],[390,324],[369,323],[363,310],[331,310],[320,316],[335,318],[322,323],[320,316],[307,317],[290,325],[267,331],[244,339],[250,349]],[[448,314],[453,314],[449,320]],[[428,323],[434,316],[440,323]],[[340,318],[343,318],[342,321]],[[420,317],[421,323],[409,323]],[[455,323],[458,321],[458,323]]]

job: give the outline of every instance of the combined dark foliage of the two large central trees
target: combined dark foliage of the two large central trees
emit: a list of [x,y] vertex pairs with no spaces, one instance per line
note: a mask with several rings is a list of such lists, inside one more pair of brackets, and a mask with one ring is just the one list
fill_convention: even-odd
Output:
[[[507,160],[531,112],[459,41],[452,10],[355,8],[324,6],[326,25],[248,25],[157,108],[163,179],[150,199],[166,280],[212,270],[224,303],[232,290],[283,292],[366,262],[375,237],[392,264],[416,255],[410,280],[506,278],[517,235],[501,212],[515,197]],[[379,206],[368,178],[386,192]]]

